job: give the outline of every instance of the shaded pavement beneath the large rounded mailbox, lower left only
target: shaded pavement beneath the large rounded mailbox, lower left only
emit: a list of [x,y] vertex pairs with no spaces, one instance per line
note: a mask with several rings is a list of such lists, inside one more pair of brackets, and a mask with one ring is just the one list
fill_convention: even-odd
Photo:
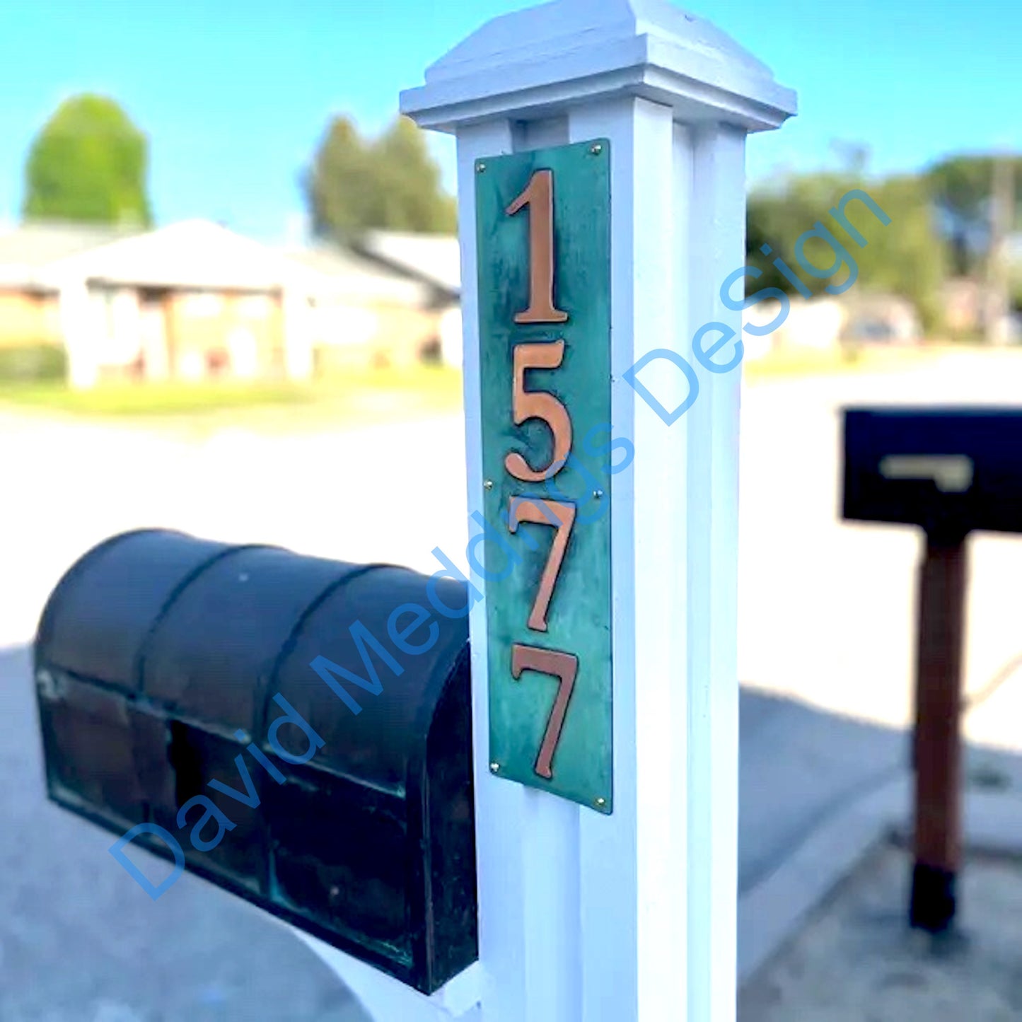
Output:
[[0,651],[0,1019],[367,1022],[283,926],[185,875],[158,901],[46,800],[29,651]]

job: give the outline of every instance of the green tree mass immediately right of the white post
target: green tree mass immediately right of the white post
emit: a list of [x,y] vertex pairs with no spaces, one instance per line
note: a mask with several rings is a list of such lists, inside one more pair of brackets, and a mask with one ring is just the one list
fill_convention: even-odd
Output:
[[[860,203],[848,207],[849,219],[867,239],[865,247],[830,216],[847,192],[864,189],[891,222],[883,226],[862,210]],[[822,294],[833,281],[812,277],[796,259],[796,242],[817,223],[823,224],[855,261],[858,277],[847,293],[886,292],[909,298],[918,310],[924,325],[933,328],[940,320],[940,286],[946,273],[945,249],[937,234],[933,204],[926,182],[913,176],[864,182],[847,173],[822,173],[789,178],[769,188],[756,189],[749,196],[747,263],[762,276],[750,281],[750,289],[779,287],[789,294],[795,286],[775,265],[780,256],[811,294]],[[764,254],[762,245],[769,245]],[[809,240],[803,257],[823,268],[834,256],[823,240]],[[847,271],[836,278],[843,282]]]

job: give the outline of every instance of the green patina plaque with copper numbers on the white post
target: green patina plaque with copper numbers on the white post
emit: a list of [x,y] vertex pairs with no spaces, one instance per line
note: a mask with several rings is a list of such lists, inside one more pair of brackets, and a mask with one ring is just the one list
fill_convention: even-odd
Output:
[[491,771],[609,814],[610,145],[475,184]]

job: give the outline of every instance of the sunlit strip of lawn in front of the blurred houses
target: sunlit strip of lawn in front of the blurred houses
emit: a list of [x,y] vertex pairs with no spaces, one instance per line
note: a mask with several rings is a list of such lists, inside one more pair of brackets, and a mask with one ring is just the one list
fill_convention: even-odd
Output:
[[461,373],[417,366],[366,369],[313,383],[0,383],[0,407],[125,424],[227,424],[277,431],[304,426],[400,420],[461,408]]

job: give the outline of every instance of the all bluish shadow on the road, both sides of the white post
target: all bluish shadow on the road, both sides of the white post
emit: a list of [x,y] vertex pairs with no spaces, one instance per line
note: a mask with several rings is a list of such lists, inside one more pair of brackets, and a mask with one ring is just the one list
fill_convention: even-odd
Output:
[[[905,765],[901,732],[750,689],[741,727],[742,891]],[[970,755],[1022,790],[1022,758]],[[0,651],[0,772],[3,1022],[366,1022],[276,921],[189,875],[152,901],[106,831],[46,800],[25,648]]]

